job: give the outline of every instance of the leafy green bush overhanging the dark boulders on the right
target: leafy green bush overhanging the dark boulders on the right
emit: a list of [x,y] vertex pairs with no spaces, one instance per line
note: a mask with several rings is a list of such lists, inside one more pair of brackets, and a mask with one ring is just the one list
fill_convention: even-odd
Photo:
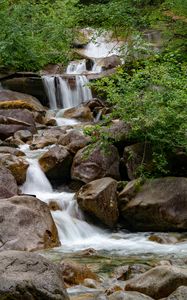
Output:
[[[151,144],[155,174],[167,171],[172,152],[187,152],[186,66],[177,52],[157,55],[130,75],[119,69],[94,86],[107,95],[113,108],[110,117],[130,125],[129,138]],[[105,134],[106,139],[110,136]]]

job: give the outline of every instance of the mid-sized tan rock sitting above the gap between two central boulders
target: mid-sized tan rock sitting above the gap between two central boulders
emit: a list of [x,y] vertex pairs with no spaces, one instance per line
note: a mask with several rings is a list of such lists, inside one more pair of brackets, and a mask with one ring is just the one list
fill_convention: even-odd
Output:
[[78,150],[84,148],[89,141],[90,139],[81,131],[72,129],[59,138],[58,144],[66,146],[71,153],[75,154]]

